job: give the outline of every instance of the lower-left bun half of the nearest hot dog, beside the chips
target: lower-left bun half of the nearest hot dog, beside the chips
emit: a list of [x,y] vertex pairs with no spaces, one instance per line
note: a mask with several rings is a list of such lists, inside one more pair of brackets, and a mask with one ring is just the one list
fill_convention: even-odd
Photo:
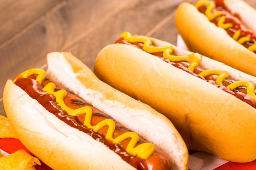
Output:
[[103,144],[63,124],[11,80],[5,87],[4,108],[18,138],[54,170],[134,169]]

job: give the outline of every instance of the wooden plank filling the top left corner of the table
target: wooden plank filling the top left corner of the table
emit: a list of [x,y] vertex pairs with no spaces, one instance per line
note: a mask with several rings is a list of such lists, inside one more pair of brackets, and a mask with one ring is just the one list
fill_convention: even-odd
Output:
[[61,0],[0,1],[0,44],[44,15]]

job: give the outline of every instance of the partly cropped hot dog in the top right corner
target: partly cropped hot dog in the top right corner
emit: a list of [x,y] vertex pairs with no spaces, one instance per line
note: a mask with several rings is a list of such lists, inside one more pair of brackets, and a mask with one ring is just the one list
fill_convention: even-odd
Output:
[[256,76],[256,10],[243,0],[200,0],[177,8],[177,30],[189,50]]

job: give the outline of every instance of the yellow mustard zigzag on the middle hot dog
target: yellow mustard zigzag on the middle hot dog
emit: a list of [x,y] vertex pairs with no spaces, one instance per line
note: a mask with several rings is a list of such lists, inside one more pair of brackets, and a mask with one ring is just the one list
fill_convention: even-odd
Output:
[[[159,46],[152,46],[152,41],[149,38],[146,37],[139,37],[139,36],[132,36],[131,33],[129,32],[124,32],[121,34],[121,38],[124,38],[124,40],[127,40],[128,42],[141,42],[144,43],[142,49],[144,51],[146,51],[147,53],[158,53],[158,52],[162,52],[163,53],[163,57],[165,59],[170,59],[170,61],[172,62],[178,62],[178,61],[186,61],[186,62],[192,62],[193,66],[191,66],[191,68],[189,68],[191,71],[194,72],[194,69],[196,66],[199,66],[199,61],[200,59],[198,57],[196,57],[195,55],[193,55],[192,57],[185,57],[185,56],[174,56],[171,55],[173,53],[173,47],[172,46],[164,46],[164,47],[159,47]],[[146,43],[145,43],[146,42]],[[150,50],[148,50],[150,49]],[[149,52],[150,51],[150,52]],[[165,54],[165,55],[164,55]],[[203,77],[207,77],[208,75],[219,75],[216,79],[216,84],[220,84],[223,85],[223,81],[224,79],[229,77],[229,74],[227,73],[227,71],[219,71],[219,70],[206,70],[201,72],[198,75],[201,75]],[[228,88],[230,88],[231,90],[234,90],[237,87],[240,86],[246,86],[247,87],[247,94],[251,95],[254,100],[256,101],[256,95],[254,94],[254,89],[255,86],[254,84],[252,84],[251,82],[247,82],[247,81],[237,81],[237,82],[233,82],[231,84],[229,84],[229,86],[227,86]]]

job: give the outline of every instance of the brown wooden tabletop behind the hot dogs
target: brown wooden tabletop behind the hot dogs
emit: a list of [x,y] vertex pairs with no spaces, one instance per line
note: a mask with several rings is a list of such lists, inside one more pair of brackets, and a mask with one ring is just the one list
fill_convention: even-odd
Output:
[[[97,53],[124,31],[176,44],[175,11],[195,0],[0,0],[0,115],[7,79],[46,68],[46,55],[67,51],[91,69]],[[256,8],[256,1],[245,0]]]

